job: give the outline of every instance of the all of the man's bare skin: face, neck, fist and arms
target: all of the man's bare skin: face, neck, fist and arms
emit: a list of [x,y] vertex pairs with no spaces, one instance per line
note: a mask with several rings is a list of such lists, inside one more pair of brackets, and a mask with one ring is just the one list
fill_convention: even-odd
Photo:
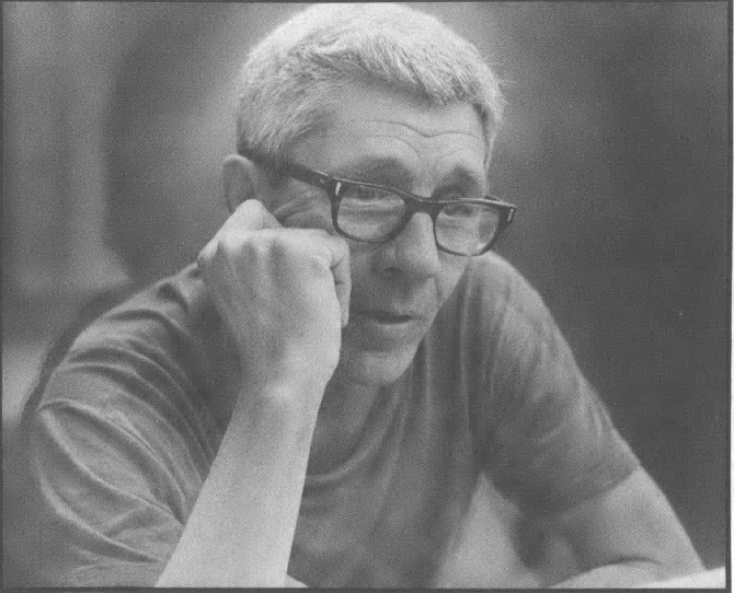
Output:
[[[332,124],[298,146],[293,161],[426,197],[484,189],[485,139],[470,105],[429,106],[367,85],[343,93]],[[223,174],[228,199],[241,206],[198,266],[238,345],[241,382],[222,402],[231,420],[159,580],[164,586],[294,584],[286,570],[309,451],[319,468],[347,454],[380,387],[405,371],[468,264],[437,251],[427,214],[389,243],[347,242],[320,190],[273,187],[237,155]],[[642,470],[547,523],[586,572],[569,586],[644,582],[700,566]],[[441,574],[481,577],[450,566]]]

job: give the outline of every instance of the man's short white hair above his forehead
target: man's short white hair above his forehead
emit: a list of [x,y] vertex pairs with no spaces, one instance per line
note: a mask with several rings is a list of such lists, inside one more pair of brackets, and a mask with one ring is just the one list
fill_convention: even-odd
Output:
[[486,161],[502,118],[500,83],[477,48],[434,16],[400,4],[317,4],[250,53],[239,79],[238,148],[283,156],[328,124],[335,92],[376,82],[477,109]]

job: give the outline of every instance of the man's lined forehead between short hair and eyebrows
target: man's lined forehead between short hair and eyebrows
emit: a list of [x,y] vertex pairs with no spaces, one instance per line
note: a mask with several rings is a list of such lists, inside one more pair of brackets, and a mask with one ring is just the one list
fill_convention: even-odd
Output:
[[415,175],[458,167],[484,176],[486,139],[472,105],[436,105],[368,84],[333,98],[328,124],[297,147],[298,162],[334,174],[375,160],[394,161]]

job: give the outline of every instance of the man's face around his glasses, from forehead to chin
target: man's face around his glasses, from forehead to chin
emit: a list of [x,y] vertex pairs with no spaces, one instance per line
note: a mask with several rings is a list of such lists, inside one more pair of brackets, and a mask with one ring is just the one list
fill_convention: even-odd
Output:
[[[486,144],[471,105],[428,105],[371,85],[342,93],[332,125],[299,144],[293,162],[424,197],[483,193]],[[271,208],[285,225],[335,232],[323,191],[294,182],[275,201]],[[386,385],[410,364],[468,258],[437,249],[423,212],[388,243],[347,242],[352,298],[337,372]]]

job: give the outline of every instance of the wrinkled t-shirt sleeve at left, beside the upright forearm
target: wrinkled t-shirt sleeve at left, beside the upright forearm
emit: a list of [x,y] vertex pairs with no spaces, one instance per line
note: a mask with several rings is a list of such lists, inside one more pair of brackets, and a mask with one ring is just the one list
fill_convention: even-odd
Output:
[[34,585],[152,586],[206,477],[210,452],[163,404],[181,387],[113,354],[62,363],[26,423]]

